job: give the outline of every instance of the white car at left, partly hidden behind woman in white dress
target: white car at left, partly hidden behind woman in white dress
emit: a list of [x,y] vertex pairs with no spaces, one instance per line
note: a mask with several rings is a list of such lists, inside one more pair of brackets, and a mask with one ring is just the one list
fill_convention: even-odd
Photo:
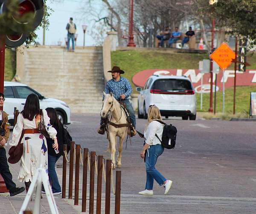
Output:
[[40,108],[46,109],[47,107],[54,108],[58,113],[58,118],[63,124],[70,124],[70,108],[67,104],[61,100],[46,98],[34,89],[28,87],[25,84],[17,82],[4,82],[4,105],[3,110],[9,114],[8,119],[13,124],[14,108],[22,111],[26,102],[26,98],[29,94],[38,95],[40,101]]

